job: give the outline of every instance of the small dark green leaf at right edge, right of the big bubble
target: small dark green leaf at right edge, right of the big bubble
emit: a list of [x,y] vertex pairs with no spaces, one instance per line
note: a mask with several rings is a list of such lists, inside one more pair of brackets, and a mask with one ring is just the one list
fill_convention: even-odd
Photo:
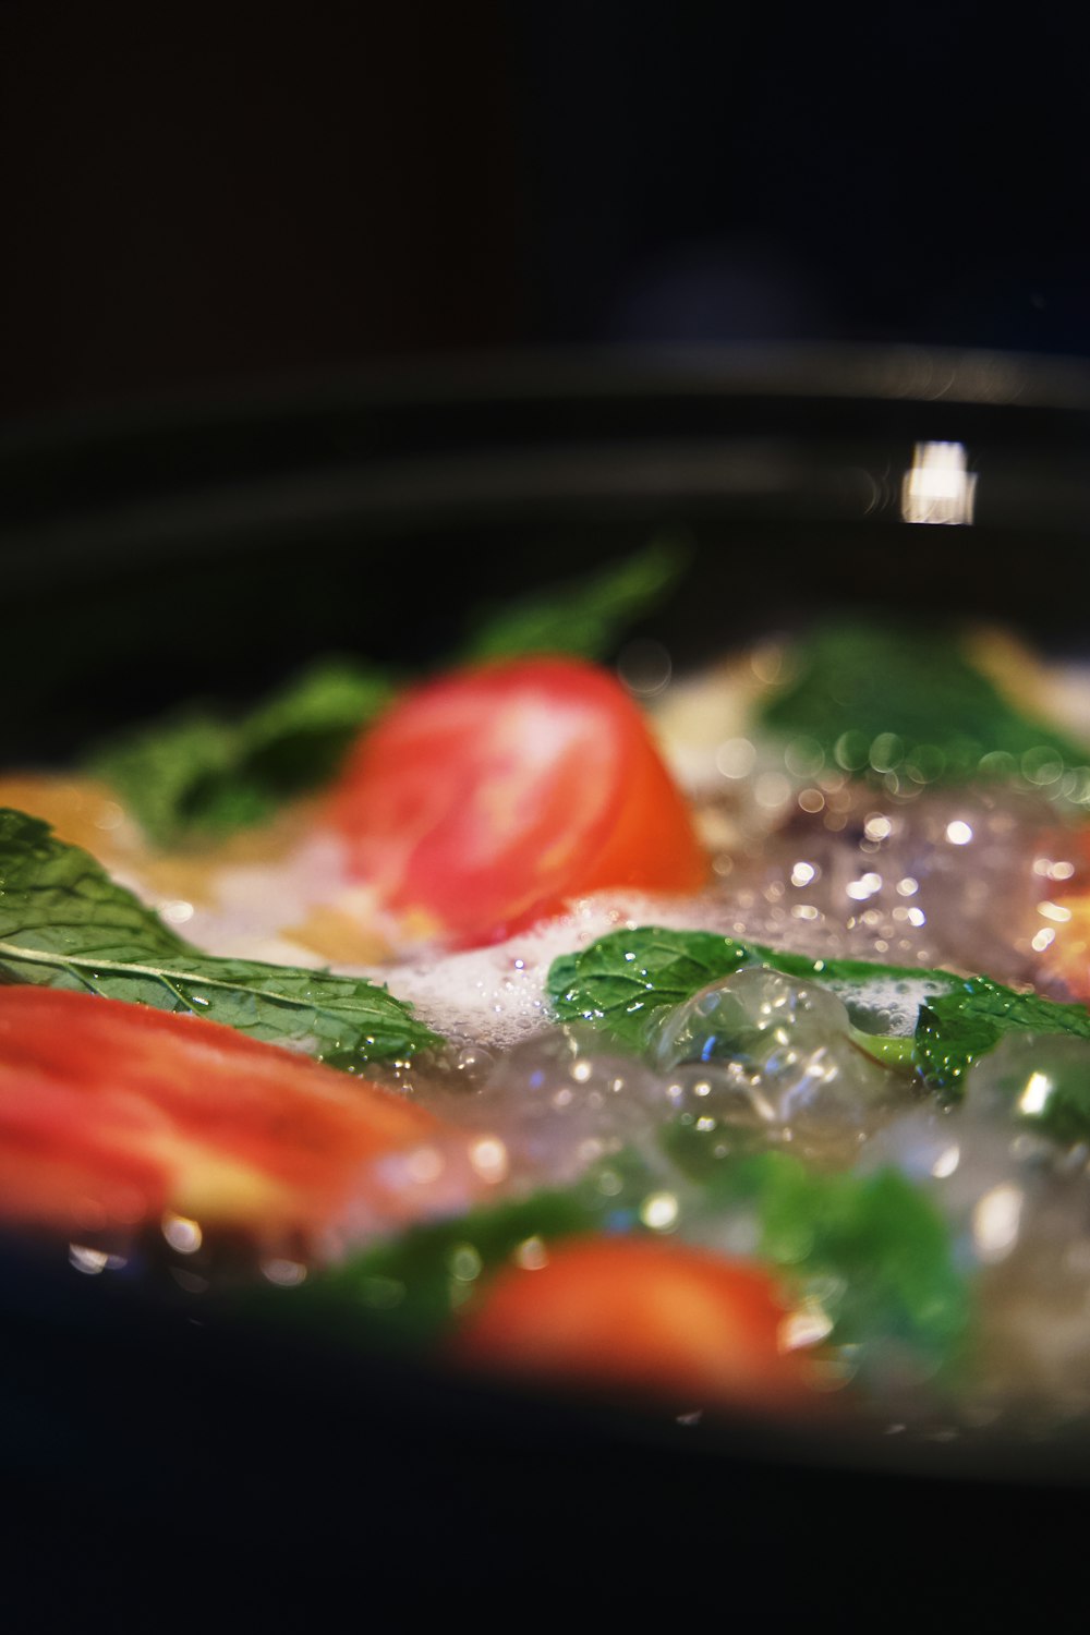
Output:
[[1090,1038],[1090,1012],[1082,1004],[1020,994],[989,976],[959,979],[951,992],[920,1006],[917,1068],[931,1089],[959,1100],[972,1063],[1012,1032]]

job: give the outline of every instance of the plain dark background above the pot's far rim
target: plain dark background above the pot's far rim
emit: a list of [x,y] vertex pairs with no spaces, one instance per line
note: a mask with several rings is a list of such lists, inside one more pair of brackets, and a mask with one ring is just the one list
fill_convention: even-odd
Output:
[[0,3],[0,415],[582,342],[1090,353],[1087,25]]

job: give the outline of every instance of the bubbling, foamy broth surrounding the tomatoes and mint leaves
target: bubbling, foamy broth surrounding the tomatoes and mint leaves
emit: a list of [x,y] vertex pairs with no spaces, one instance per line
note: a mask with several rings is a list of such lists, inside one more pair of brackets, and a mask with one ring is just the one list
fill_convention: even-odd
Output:
[[[381,981],[441,1035],[368,1076],[440,1115],[454,1148],[464,1136],[490,1153],[449,1161],[431,1200],[418,1176],[405,1182],[409,1213],[448,1231],[435,1256],[454,1323],[495,1275],[474,1212],[523,1210],[500,1259],[533,1275],[554,1252],[534,1198],[577,1192],[601,1238],[771,1267],[780,1351],[812,1359],[815,1393],[863,1418],[925,1434],[1070,1424],[1090,1411],[1090,1136],[1033,1115],[1056,1086],[1079,1100],[1090,1041],[1010,1030],[956,1097],[933,1094],[909,1051],[943,973],[1056,1002],[1090,991],[1083,773],[1026,752],[1003,777],[948,783],[882,765],[873,746],[864,768],[806,736],[784,747],[760,705],[791,651],[688,679],[652,665],[650,685],[647,651],[642,672],[623,654],[708,849],[703,891],[595,891],[459,952],[382,909],[320,801],[219,847],[163,852],[106,788],[11,778],[0,796],[92,849],[198,948]],[[1023,700],[1036,688],[1048,719],[1087,731],[1080,672],[1036,667],[998,638],[977,651]],[[579,1001],[557,1024],[556,961],[613,938],[639,966],[646,927],[734,938],[737,968],[663,1007],[641,1050]],[[768,948],[811,968],[770,968]],[[191,1295],[263,1279],[289,1301],[376,1244],[397,1254],[368,1210],[348,1210],[319,1252],[265,1244],[258,1264],[216,1234],[194,1254],[180,1231],[172,1216],[159,1252]],[[93,1233],[77,1248],[82,1270],[131,1252]],[[351,1298],[395,1329],[413,1290],[395,1259],[381,1265]]]

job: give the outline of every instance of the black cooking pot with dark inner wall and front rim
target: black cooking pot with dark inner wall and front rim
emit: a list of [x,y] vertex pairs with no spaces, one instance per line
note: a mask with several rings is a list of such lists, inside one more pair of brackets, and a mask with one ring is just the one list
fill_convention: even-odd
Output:
[[[469,358],[18,427],[0,764],[332,649],[433,662],[482,602],[663,533],[691,567],[641,631],[677,667],[879,603],[1085,654],[1088,433],[1088,365],[918,348]],[[905,520],[927,443],[964,450],[971,523]],[[967,1450],[497,1386],[150,1300],[18,1236],[0,1321],[5,1596],[46,1627],[92,1602],[144,1628],[227,1606],[289,1628],[1039,1615],[1080,1566],[1079,1439]]]

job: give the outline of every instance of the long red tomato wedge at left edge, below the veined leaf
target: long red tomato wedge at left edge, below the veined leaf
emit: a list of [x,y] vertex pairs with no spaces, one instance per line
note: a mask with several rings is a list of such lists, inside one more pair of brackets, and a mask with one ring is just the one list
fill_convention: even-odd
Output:
[[[384,1154],[443,1127],[368,1081],[232,1028],[0,988],[0,1218],[74,1233],[165,1210],[309,1236]],[[387,1216],[397,1203],[371,1202]]]

